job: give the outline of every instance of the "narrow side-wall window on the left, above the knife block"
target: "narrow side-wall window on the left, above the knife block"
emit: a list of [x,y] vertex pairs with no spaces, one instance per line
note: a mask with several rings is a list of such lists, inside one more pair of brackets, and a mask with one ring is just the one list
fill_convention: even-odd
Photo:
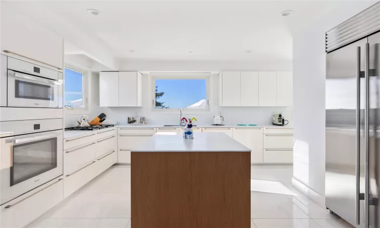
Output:
[[86,74],[65,67],[64,105],[66,108],[86,108]]

